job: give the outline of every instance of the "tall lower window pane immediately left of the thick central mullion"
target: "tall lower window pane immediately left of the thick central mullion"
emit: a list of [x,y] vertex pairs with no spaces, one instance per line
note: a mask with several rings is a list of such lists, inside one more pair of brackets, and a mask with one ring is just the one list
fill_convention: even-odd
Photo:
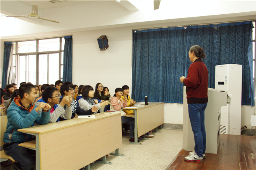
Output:
[[36,55],[27,56],[27,82],[36,84]]

